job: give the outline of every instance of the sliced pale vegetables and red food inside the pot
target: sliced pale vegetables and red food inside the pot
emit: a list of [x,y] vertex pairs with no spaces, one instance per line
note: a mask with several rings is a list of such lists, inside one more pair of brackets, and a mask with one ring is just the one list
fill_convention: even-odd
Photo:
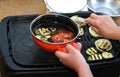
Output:
[[73,38],[73,33],[65,29],[56,28],[37,28],[35,35],[38,39],[44,42],[65,43]]

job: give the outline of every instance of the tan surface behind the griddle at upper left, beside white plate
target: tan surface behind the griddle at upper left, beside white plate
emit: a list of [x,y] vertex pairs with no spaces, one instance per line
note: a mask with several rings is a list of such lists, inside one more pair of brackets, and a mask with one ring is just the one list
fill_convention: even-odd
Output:
[[6,16],[42,14],[45,12],[44,0],[0,0],[0,20]]

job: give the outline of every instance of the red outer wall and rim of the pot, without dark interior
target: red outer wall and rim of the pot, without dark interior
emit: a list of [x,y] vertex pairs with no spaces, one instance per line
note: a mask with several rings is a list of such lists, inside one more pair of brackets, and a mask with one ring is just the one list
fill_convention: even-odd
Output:
[[[77,32],[76,32],[75,37],[74,37],[72,40],[70,40],[70,41],[67,42],[67,43],[49,43],[49,42],[44,42],[44,41],[38,39],[38,38],[35,36],[35,34],[34,34],[34,32],[33,32],[33,29],[34,29],[33,24],[36,23],[38,20],[40,20],[42,17],[44,17],[44,16],[51,16],[51,15],[52,15],[52,17],[54,17],[54,18],[63,17],[62,19],[64,19],[64,20],[63,20],[64,22],[68,20],[71,24],[73,24],[73,25],[77,28],[77,30],[74,30],[74,31],[77,31]],[[65,20],[65,19],[67,19],[67,20]],[[40,23],[40,22],[38,22],[38,23]],[[36,25],[36,26],[37,26],[37,25]],[[36,27],[36,26],[35,26],[35,27]],[[56,50],[59,50],[59,51],[62,51],[62,52],[67,52],[67,50],[65,49],[66,44],[69,43],[69,44],[73,45],[74,42],[75,42],[75,40],[76,40],[76,38],[77,38],[77,36],[78,36],[78,33],[79,33],[78,26],[77,26],[74,22],[72,22],[71,19],[69,19],[68,17],[66,17],[66,16],[64,16],[64,15],[59,15],[59,14],[45,14],[45,15],[40,15],[40,16],[38,16],[37,18],[35,18],[35,19],[31,22],[30,31],[31,31],[32,38],[33,38],[34,42],[35,42],[41,49],[46,50],[46,51],[48,51],[48,52],[55,52]]]

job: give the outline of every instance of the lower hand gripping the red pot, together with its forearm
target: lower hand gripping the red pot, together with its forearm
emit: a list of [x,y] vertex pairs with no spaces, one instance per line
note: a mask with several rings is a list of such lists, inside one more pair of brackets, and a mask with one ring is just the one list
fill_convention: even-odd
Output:
[[74,46],[67,44],[68,53],[56,51],[55,54],[64,65],[75,70],[79,77],[92,77],[89,65],[80,52],[81,47],[81,43],[75,43]]

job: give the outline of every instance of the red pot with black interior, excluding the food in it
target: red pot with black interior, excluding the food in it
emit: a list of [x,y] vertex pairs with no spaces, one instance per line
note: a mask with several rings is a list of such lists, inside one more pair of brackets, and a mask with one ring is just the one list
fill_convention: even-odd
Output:
[[[71,39],[68,42],[65,43],[51,43],[51,42],[44,42],[35,36],[35,28],[41,27],[41,26],[54,26],[56,28],[64,27],[66,29],[69,29],[73,32],[74,38]],[[79,33],[79,28],[78,26],[67,16],[61,15],[61,14],[43,14],[35,18],[31,24],[30,24],[30,32],[32,34],[33,40],[35,43],[42,48],[43,50],[46,50],[48,52],[55,52],[56,50],[60,50],[63,52],[67,52],[65,50],[66,44],[71,44],[73,45],[78,33]]]

